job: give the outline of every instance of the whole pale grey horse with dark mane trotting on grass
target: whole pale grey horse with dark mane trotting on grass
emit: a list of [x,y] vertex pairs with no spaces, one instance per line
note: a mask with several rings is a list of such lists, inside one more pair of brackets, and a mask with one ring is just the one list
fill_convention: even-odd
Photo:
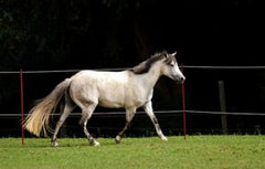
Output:
[[[77,72],[70,78],[65,78],[43,99],[41,99],[26,116],[23,127],[35,136],[47,136],[52,133],[52,146],[59,146],[57,134],[71,112],[78,106],[82,109],[81,125],[92,146],[99,142],[88,133],[87,122],[92,117],[96,106],[107,108],[125,108],[126,124],[123,130],[115,137],[118,144],[128,129],[137,108],[142,107],[150,117],[157,135],[167,141],[158,119],[152,110],[153,87],[161,75],[166,75],[179,83],[186,77],[179,70],[174,53],[158,52],[146,61],[120,72],[92,71]],[[63,98],[64,97],[64,98]],[[61,116],[55,130],[50,126],[50,116],[61,104]]]

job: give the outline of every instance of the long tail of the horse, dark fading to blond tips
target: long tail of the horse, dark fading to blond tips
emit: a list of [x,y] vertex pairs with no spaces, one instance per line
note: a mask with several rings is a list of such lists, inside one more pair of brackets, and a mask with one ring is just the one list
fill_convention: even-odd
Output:
[[46,136],[46,131],[53,133],[49,126],[50,115],[55,112],[57,104],[68,88],[70,83],[70,78],[61,82],[45,98],[41,99],[30,110],[23,125],[26,130],[36,136],[40,136],[42,131],[44,136]]

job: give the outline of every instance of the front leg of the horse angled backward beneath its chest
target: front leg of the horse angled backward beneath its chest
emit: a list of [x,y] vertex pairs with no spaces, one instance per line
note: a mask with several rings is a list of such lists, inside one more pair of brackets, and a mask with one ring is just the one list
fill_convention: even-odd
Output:
[[130,122],[132,120],[136,113],[136,108],[126,109],[126,124],[124,129],[116,136],[115,141],[119,144],[124,137],[125,131],[129,128]]

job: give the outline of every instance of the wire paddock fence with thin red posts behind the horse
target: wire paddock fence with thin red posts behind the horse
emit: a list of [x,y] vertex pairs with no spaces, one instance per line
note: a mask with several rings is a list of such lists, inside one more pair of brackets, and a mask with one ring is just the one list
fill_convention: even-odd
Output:
[[[97,71],[123,70],[126,67]],[[44,97],[59,82],[78,71],[82,70],[0,72],[3,87],[0,89],[0,136],[31,137],[29,133],[22,134],[21,122],[33,101]],[[265,133],[265,66],[183,65],[183,72],[187,77],[184,96],[183,86],[166,78],[158,83],[169,87],[171,93],[159,94],[156,93],[159,87],[155,89],[153,109],[166,135],[186,135],[184,126],[188,135]],[[59,116],[59,113],[53,115],[53,125]],[[80,109],[70,115],[62,128],[62,137],[83,137],[80,116]],[[123,109],[98,108],[88,129],[98,137],[114,137],[124,125]],[[156,131],[148,116],[139,109],[126,135],[156,136]]]

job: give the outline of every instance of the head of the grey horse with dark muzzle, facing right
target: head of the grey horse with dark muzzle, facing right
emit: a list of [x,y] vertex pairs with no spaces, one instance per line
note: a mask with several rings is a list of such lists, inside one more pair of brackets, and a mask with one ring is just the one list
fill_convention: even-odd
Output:
[[174,52],[172,54],[169,54],[169,53],[165,54],[165,59],[162,60],[163,64],[162,64],[161,72],[163,75],[166,75],[174,81],[184,83],[186,77],[179,70],[178,62],[174,57],[176,54],[177,54],[177,52]]

